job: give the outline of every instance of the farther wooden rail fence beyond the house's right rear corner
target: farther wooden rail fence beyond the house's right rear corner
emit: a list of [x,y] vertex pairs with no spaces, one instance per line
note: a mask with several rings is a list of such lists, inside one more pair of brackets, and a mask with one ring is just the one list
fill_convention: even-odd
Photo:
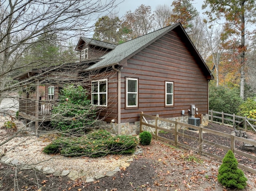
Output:
[[240,130],[256,133],[255,119],[209,110],[209,121],[231,127],[235,126]]

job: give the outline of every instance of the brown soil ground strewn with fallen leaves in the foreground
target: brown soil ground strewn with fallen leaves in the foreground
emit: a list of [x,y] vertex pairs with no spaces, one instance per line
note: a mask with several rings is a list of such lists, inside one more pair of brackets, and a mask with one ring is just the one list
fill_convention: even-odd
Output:
[[[210,124],[208,128],[231,132],[232,128]],[[191,133],[195,133],[192,132]],[[165,134],[165,136],[171,136]],[[207,135],[204,134],[204,138]],[[210,136],[210,135],[209,135]],[[249,138],[251,138],[249,136]],[[226,143],[227,140],[211,135],[211,140]],[[193,142],[184,140],[187,144]],[[239,143],[237,145],[240,146]],[[217,181],[221,161],[208,156],[198,156],[193,150],[175,148],[171,144],[152,139],[149,146],[141,146],[143,153],[136,155],[126,169],[112,177],[104,177],[92,183],[84,179],[71,181],[67,177],[44,175],[34,170],[20,171],[0,164],[0,190],[2,191],[227,191]],[[207,148],[206,148],[207,149]],[[208,148],[211,150],[213,148]],[[220,152],[220,151],[213,151]],[[248,150],[250,154],[253,151]],[[246,159],[239,159],[246,161]],[[250,161],[255,164],[255,161]],[[254,191],[256,176],[244,171],[248,178],[244,191]]]

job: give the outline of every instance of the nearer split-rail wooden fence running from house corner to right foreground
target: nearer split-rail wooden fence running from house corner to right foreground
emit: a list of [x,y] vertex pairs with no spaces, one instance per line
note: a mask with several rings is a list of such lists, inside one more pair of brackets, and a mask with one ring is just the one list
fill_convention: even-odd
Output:
[[[155,121],[153,124],[148,124],[147,120],[155,120]],[[164,122],[165,124],[170,124],[169,127],[172,126],[174,128],[168,129],[166,127],[160,127],[158,124],[162,124],[162,122]],[[198,152],[198,154],[204,154],[204,155],[208,155],[213,158],[222,160],[224,156],[219,156],[218,154],[214,154],[214,153],[210,152],[209,147],[215,147],[217,149],[224,150],[224,151],[232,150],[232,152],[234,154],[244,156],[245,158],[248,158],[248,159],[256,160],[256,156],[254,156],[252,154],[248,154],[246,152],[242,152],[241,150],[236,149],[236,146],[235,146],[236,142],[242,142],[244,144],[252,144],[252,145],[256,146],[256,142],[253,140],[250,140],[250,139],[241,138],[241,137],[227,134],[224,132],[218,132],[218,131],[211,130],[208,128],[194,126],[194,125],[190,125],[190,124],[186,124],[186,123],[182,123],[182,122],[178,122],[178,121],[168,120],[165,118],[160,118],[158,116],[150,116],[147,114],[143,114],[143,112],[142,112],[140,114],[140,132],[142,132],[145,127],[147,129],[151,129],[153,131],[153,137],[156,140],[159,139],[159,140],[169,142],[176,147],[181,146],[181,147],[187,148],[189,150],[192,149],[194,152]],[[196,133],[194,133],[194,135],[190,135],[190,134],[186,134],[186,132],[184,133],[185,129],[192,129],[192,130],[198,130],[198,131],[192,131],[192,130],[189,131],[188,130],[188,132],[196,132]],[[162,133],[164,135],[170,134],[172,138],[165,138],[164,136],[160,136],[159,131],[164,132],[164,133]],[[216,142],[213,142],[214,140],[213,141],[206,140],[206,139],[204,139],[204,133],[218,135],[218,136],[224,138],[225,140],[228,140],[230,144],[222,145],[219,142],[219,140],[215,140]],[[186,144],[186,142],[184,142],[184,138],[187,140],[192,140],[193,145]],[[240,163],[238,164],[238,167],[240,167],[241,169],[244,169],[248,172],[256,174],[256,169],[252,169],[252,168],[242,165]]]

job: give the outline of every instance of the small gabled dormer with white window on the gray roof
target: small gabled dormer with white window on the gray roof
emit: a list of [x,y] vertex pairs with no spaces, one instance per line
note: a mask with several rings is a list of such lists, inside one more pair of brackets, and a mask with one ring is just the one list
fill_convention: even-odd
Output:
[[101,57],[116,47],[114,44],[80,37],[76,51],[80,51],[80,61],[93,60]]

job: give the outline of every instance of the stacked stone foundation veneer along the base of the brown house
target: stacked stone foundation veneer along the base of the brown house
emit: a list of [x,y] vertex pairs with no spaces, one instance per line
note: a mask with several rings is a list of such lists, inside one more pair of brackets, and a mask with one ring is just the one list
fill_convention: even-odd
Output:
[[[177,120],[179,122],[188,123],[188,116],[168,118],[168,119],[172,120],[172,121]],[[156,124],[156,120],[148,120],[147,122],[152,125]],[[207,126],[208,122],[209,122],[209,116],[208,116],[208,114],[206,114],[202,117],[201,125]],[[106,130],[108,130],[112,134],[122,134],[122,135],[138,135],[138,134],[140,134],[140,122],[139,121],[134,122],[134,124],[130,124],[130,123],[116,124],[116,123],[107,123],[104,121],[100,121],[100,122],[98,122],[97,125],[103,126]],[[118,126],[120,126],[120,128],[118,128]],[[162,128],[167,128],[167,129],[174,129],[175,123],[158,120],[158,126],[162,127]],[[180,125],[180,127],[178,127],[178,128],[182,128],[182,125]],[[120,129],[120,130],[118,131],[118,129]],[[143,126],[143,130],[149,130],[148,126]]]

